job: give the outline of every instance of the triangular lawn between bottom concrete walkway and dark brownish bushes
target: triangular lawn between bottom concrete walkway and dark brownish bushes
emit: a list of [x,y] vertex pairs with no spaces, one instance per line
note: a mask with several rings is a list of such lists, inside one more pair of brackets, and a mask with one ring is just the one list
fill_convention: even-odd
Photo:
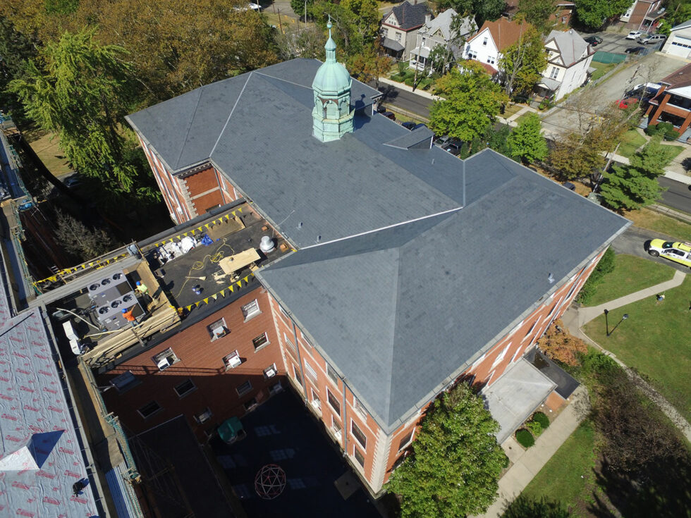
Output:
[[578,516],[579,502],[587,502],[594,486],[595,453],[592,424],[583,421],[561,448],[547,461],[521,493],[530,499],[546,498],[572,508]]

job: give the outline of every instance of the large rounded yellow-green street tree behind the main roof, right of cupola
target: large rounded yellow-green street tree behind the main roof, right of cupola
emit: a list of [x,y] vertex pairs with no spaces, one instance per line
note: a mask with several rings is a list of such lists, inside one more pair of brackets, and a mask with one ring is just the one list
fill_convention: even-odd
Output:
[[508,97],[477,61],[463,61],[463,73],[453,68],[436,82],[436,93],[445,97],[429,109],[429,128],[470,142],[494,124]]

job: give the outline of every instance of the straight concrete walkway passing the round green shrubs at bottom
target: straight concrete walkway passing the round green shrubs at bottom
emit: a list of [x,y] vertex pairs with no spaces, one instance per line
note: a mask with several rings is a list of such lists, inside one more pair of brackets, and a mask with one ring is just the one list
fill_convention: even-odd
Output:
[[499,518],[506,507],[518,498],[518,495],[534,479],[540,469],[551,459],[556,450],[575,431],[587,416],[590,406],[588,391],[579,386],[569,397],[570,404],[551,422],[542,435],[535,440],[535,445],[527,450],[518,445],[513,436],[503,442],[501,447],[506,456],[513,462],[508,471],[499,480],[499,496],[487,512],[475,518]]

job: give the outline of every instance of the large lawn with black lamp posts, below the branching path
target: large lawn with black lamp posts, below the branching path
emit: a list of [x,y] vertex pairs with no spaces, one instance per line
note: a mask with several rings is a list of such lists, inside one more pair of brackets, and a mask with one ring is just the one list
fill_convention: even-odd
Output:
[[652,385],[685,417],[691,420],[688,378],[691,373],[691,276],[677,288],[667,290],[663,302],[655,297],[639,300],[609,313],[611,335],[606,336],[605,316],[585,326],[585,333],[628,366],[647,376]]

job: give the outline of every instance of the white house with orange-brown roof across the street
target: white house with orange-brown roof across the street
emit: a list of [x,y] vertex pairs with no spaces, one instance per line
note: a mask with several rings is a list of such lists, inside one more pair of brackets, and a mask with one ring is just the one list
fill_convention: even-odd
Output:
[[499,73],[501,52],[508,49],[530,27],[529,23],[517,23],[506,18],[496,22],[486,21],[475,36],[465,44],[465,59],[482,63],[490,75]]

